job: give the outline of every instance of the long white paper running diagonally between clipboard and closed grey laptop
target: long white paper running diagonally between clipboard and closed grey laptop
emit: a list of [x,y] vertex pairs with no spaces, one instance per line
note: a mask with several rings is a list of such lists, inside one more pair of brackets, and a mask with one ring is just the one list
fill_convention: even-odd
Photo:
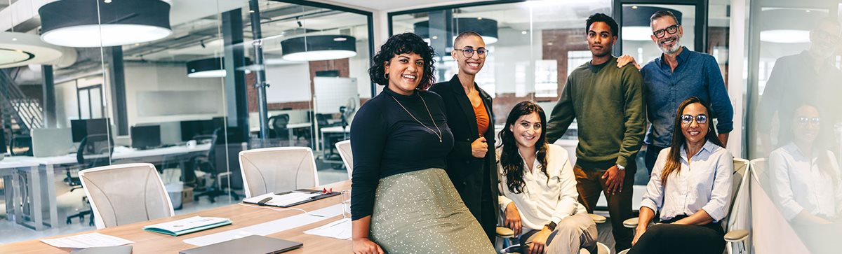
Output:
[[[283,230],[308,225],[317,221],[328,220],[328,218],[341,214],[342,204],[334,204],[323,209],[312,211],[310,214],[297,214],[284,219],[272,220],[266,223],[251,225],[236,230],[227,230],[216,234],[202,235],[199,237],[185,239],[184,242],[195,246],[208,246],[248,235],[270,235]],[[234,221],[234,223],[237,223],[237,221]]]

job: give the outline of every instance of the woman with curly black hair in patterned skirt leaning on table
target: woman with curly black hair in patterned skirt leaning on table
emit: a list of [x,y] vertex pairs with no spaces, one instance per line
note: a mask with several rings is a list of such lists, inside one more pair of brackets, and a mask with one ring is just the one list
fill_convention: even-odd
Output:
[[386,87],[351,124],[354,253],[494,253],[443,169],[453,135],[426,91],[433,55],[418,35],[397,34],[369,69]]

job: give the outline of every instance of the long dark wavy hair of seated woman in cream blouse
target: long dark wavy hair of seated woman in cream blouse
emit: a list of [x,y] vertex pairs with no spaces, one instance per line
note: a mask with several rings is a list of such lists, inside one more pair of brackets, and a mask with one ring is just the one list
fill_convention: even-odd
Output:
[[[514,140],[514,133],[509,130],[520,116],[538,113],[541,117],[541,136],[538,138],[535,146],[538,148],[538,155],[536,158],[541,163],[541,172],[544,172],[547,178],[550,177],[546,173],[546,115],[544,109],[536,103],[525,101],[514,105],[512,111],[509,112],[509,118],[506,119],[506,125],[503,130],[500,130],[500,146],[503,147],[503,152],[500,153],[500,165],[503,167],[503,174],[506,177],[506,185],[509,186],[509,191],[512,193],[523,193],[524,186],[524,160],[520,157],[518,151],[518,144]],[[549,181],[549,180],[548,180]]]

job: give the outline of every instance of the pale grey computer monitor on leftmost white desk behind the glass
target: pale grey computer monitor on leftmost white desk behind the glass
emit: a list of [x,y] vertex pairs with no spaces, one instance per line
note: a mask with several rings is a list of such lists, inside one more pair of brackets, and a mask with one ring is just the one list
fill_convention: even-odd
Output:
[[70,128],[32,129],[32,155],[36,157],[64,156],[72,151]]

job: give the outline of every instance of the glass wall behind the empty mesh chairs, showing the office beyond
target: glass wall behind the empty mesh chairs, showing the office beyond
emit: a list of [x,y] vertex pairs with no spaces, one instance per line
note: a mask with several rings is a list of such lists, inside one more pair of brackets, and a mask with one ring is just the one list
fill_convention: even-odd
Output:
[[[11,20],[3,29],[60,56],[0,62],[4,161],[35,161],[40,176],[4,169],[0,189],[12,193],[15,183],[15,195],[41,198],[4,201],[22,209],[24,225],[0,223],[11,232],[3,243],[45,236],[28,228],[93,230],[78,177],[90,167],[152,163],[176,214],[239,202],[237,154],[248,149],[311,147],[318,172],[307,186],[348,179],[334,143],[348,139],[346,126],[371,97],[370,13],[274,0],[60,2],[74,4],[39,3],[35,16],[15,19],[0,11]],[[73,22],[93,23],[68,32]],[[28,191],[34,184],[43,191]]]

